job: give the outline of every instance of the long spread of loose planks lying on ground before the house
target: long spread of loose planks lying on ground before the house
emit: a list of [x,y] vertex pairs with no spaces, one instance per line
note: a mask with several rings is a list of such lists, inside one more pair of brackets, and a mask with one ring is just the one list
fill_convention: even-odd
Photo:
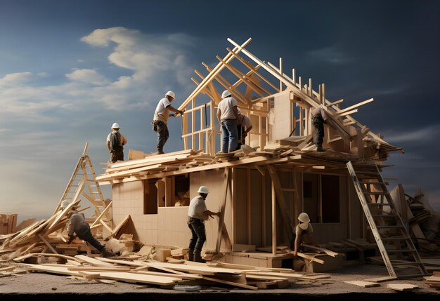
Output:
[[[48,255],[48,254],[47,254]],[[30,271],[74,276],[89,281],[123,281],[174,288],[174,286],[231,286],[250,290],[289,288],[299,281],[320,285],[323,274],[304,274],[292,269],[261,268],[249,265],[232,265],[224,262],[203,264],[182,260],[180,263],[140,260],[110,259],[102,257],[75,257],[58,255],[65,263],[30,264],[22,262],[25,257],[15,258],[8,271],[20,267]]]

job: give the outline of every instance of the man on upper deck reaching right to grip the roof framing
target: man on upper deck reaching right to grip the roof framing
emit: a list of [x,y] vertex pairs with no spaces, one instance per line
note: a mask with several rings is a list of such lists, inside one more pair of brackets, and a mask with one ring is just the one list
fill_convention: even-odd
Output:
[[174,94],[173,91],[168,91],[165,93],[165,97],[157,104],[153,121],[151,121],[153,124],[153,131],[157,133],[157,152],[153,154],[164,154],[164,145],[169,137],[167,126],[169,111],[176,113],[174,116],[183,115],[183,111],[176,109],[171,105],[174,98],[176,98],[176,94]]

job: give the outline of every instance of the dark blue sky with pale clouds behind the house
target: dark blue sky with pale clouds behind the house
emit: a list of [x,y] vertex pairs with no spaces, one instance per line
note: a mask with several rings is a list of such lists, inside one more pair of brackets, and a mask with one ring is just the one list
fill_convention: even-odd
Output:
[[[282,57],[344,107],[375,98],[354,118],[406,151],[384,176],[440,210],[439,15],[426,0],[0,0],[0,213],[51,215],[86,142],[103,171],[113,122],[126,158],[154,152],[157,101],[173,90],[179,105],[194,69],[249,37],[254,55]],[[165,152],[182,149],[180,124],[169,126]]]

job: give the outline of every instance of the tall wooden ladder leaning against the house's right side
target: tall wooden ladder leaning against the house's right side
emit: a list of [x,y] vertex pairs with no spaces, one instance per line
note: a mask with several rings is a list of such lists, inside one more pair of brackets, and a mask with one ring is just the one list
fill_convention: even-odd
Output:
[[[426,276],[427,270],[403,224],[401,215],[394,206],[387,183],[384,182],[377,165],[349,161],[347,168],[389,276],[396,278]],[[386,210],[389,213],[384,212],[386,207],[389,208]],[[393,259],[390,259],[390,255]],[[399,266],[407,268],[394,269]],[[396,271],[404,273],[398,275]]]

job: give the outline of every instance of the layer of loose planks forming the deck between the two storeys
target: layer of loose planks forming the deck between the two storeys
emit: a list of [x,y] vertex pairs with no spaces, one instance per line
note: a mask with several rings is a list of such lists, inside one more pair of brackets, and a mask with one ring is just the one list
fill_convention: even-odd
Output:
[[[167,176],[181,175],[202,170],[226,168],[234,166],[261,166],[280,165],[295,166],[299,170],[329,169],[332,172],[344,173],[348,160],[356,161],[356,156],[350,153],[337,152],[328,149],[326,152],[313,150],[311,136],[303,138],[280,140],[279,145],[257,151],[252,147],[243,145],[241,149],[231,153],[217,153],[214,156],[187,149],[168,154],[152,155],[135,151],[140,159],[118,161],[117,163],[103,163],[107,166],[105,171],[96,177],[101,184],[115,184],[134,180],[150,178],[164,178]],[[291,142],[294,141],[294,142]],[[295,144],[297,144],[295,146]],[[311,147],[311,145],[313,147]],[[306,150],[304,150],[306,149]],[[316,149],[316,147],[315,147]],[[132,156],[134,157],[134,156]]]

